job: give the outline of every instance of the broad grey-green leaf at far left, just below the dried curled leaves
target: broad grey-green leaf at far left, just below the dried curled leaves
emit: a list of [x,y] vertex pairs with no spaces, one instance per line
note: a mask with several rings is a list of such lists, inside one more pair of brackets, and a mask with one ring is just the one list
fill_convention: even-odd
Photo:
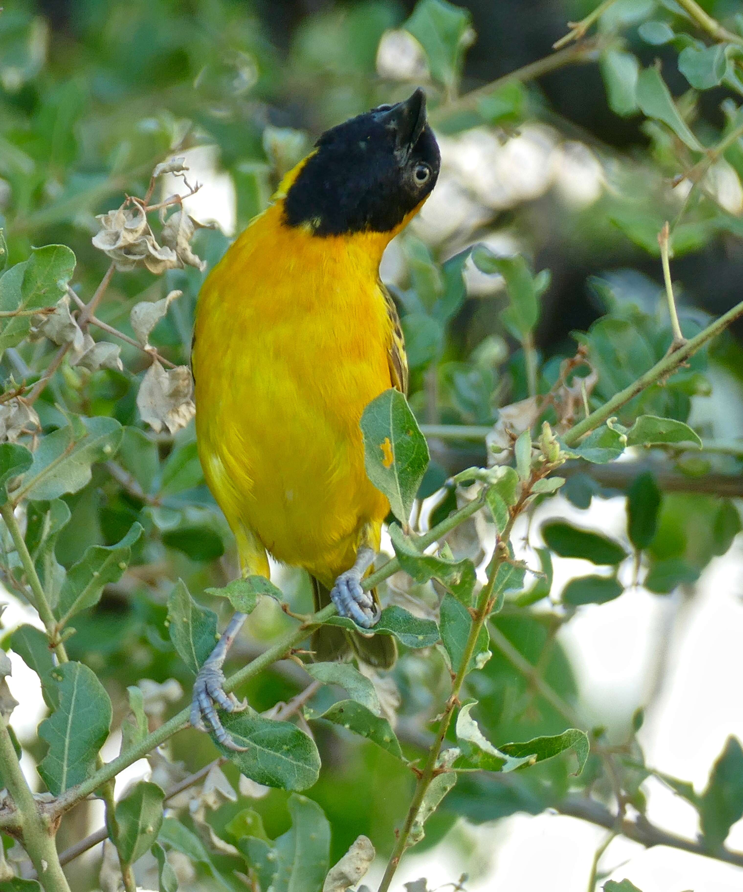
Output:
[[34,452],[33,464],[23,478],[21,491],[27,499],[59,499],[90,483],[90,466],[113,458],[123,428],[115,418],[79,419],[85,433],[76,436],[72,425],[46,434]]

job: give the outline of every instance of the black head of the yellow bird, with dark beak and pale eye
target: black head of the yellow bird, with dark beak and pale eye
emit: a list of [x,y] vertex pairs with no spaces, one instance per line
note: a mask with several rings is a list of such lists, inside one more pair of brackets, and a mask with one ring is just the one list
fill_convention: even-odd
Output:
[[315,235],[391,232],[431,193],[440,165],[417,89],[320,136],[286,193],[285,223]]

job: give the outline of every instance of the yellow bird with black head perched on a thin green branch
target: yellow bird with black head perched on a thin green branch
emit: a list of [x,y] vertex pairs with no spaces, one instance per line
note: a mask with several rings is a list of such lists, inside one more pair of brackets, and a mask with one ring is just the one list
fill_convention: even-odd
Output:
[[[205,281],[192,364],[206,481],[237,541],[244,575],[268,554],[312,577],[362,628],[378,619],[360,580],[389,503],[369,482],[359,420],[384,390],[405,392],[400,322],[379,278],[384,248],[431,193],[440,155],[418,89],[320,136]],[[192,723],[236,747],[215,705],[235,614],[194,685]],[[318,659],[392,665],[392,638],[324,626]]]

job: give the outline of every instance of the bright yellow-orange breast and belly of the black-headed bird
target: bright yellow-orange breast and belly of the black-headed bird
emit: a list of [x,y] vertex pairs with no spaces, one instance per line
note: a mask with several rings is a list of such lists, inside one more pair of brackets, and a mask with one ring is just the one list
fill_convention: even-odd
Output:
[[248,531],[325,584],[389,510],[367,480],[359,430],[391,386],[378,241],[287,229],[275,205],[213,271],[197,311],[196,430],[211,491],[238,542]]

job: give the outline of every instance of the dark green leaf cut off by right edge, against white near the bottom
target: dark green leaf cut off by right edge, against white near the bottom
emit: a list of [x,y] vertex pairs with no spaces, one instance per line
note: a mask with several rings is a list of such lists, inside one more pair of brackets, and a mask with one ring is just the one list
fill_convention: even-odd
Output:
[[743,817],[743,749],[734,737],[727,739],[712,766],[699,817],[705,843],[713,852],[722,847],[732,825]]

